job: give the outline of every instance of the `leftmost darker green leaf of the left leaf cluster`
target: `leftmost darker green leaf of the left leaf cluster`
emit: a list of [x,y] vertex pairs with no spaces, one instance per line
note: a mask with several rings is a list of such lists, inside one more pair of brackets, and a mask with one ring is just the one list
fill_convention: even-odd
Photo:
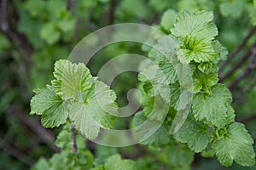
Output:
[[31,115],[42,115],[44,127],[59,127],[65,123],[68,111],[65,102],[55,94],[51,87],[41,89],[31,100]]

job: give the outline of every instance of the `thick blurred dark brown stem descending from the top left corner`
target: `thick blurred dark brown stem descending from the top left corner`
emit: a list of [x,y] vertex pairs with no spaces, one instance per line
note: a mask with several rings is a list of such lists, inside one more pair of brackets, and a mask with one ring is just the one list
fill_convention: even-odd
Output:
[[[15,58],[20,71],[20,94],[23,100],[27,101],[30,96],[28,91],[29,85],[26,82],[31,82],[27,77],[27,72],[30,72],[32,67],[31,56],[33,54],[32,44],[27,40],[26,36],[18,31],[16,24],[19,16],[17,16],[17,8],[12,0],[1,1],[0,10],[0,31],[9,39],[12,46],[19,52],[19,57]],[[22,80],[22,81],[21,81]],[[24,81],[25,80],[25,81]]]

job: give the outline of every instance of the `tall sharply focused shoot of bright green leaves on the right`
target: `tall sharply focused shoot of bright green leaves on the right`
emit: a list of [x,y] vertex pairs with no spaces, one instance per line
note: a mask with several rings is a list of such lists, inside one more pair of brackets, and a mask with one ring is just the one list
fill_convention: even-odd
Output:
[[172,35],[182,40],[177,58],[190,65],[194,86],[191,108],[194,118],[188,118],[174,138],[187,143],[195,152],[212,145],[224,166],[230,166],[233,160],[242,166],[252,166],[255,162],[253,139],[244,125],[235,122],[230,91],[218,84],[216,64],[227,52],[214,39],[218,30],[212,19],[212,12],[207,11],[178,14],[171,28]]

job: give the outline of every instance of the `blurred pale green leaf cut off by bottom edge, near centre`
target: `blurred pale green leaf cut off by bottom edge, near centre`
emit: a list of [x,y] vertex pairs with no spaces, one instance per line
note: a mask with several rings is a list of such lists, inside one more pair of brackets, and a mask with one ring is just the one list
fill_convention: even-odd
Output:
[[110,156],[105,162],[105,170],[136,170],[136,162],[122,160],[118,154]]

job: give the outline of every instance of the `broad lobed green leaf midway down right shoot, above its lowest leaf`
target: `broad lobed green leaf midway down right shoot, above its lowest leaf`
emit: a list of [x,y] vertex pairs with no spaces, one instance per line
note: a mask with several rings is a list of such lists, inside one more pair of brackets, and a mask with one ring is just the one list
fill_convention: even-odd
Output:
[[211,88],[211,93],[200,92],[195,94],[192,110],[195,119],[212,123],[216,127],[224,127],[227,122],[227,104],[232,101],[228,88],[217,84]]

